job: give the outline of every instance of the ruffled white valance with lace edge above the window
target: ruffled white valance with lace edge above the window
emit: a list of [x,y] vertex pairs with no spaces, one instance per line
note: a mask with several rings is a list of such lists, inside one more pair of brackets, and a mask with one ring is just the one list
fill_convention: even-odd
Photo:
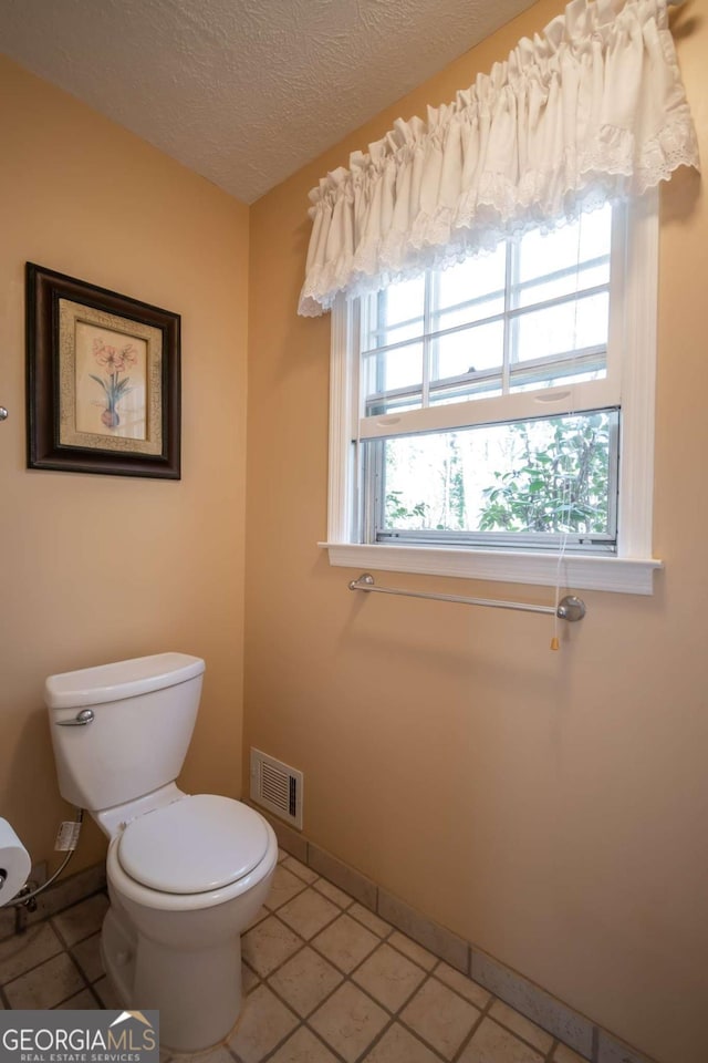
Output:
[[641,195],[698,147],[667,0],[573,0],[506,62],[310,193],[299,312]]

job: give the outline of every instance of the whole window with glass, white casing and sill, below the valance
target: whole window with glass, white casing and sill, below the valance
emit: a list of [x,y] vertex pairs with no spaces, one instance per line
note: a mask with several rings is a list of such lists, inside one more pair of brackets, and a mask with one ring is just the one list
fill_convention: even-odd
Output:
[[333,564],[650,594],[656,214],[335,307]]

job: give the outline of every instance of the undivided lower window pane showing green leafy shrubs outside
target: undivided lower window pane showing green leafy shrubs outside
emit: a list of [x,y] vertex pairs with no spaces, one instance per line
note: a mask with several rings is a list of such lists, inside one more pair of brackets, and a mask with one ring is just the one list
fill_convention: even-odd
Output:
[[614,410],[376,441],[376,532],[614,537]]

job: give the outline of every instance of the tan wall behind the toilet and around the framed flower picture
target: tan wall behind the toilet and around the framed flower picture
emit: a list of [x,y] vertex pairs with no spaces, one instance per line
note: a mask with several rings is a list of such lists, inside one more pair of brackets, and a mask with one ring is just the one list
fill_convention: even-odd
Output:
[[[183,781],[240,793],[248,209],[7,60],[0,100],[0,815],[39,860],[71,814],[52,672],[202,656]],[[181,314],[180,482],[25,468],[25,260]]]

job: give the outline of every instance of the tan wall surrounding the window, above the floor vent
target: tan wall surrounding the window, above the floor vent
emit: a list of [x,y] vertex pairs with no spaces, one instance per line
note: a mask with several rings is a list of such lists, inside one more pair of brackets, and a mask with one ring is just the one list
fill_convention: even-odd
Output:
[[[654,597],[584,592],[587,619],[552,653],[545,619],[355,598],[346,582],[358,572],[331,568],[316,546],[330,324],[295,317],[308,190],[560,10],[538,3],[251,209],[243,746],[304,771],[305,833],[321,846],[662,1063],[705,1063],[708,209],[698,179],[680,174],[663,196],[655,550],[666,570]],[[706,0],[673,13],[690,23],[679,59],[705,158],[707,14]]]

